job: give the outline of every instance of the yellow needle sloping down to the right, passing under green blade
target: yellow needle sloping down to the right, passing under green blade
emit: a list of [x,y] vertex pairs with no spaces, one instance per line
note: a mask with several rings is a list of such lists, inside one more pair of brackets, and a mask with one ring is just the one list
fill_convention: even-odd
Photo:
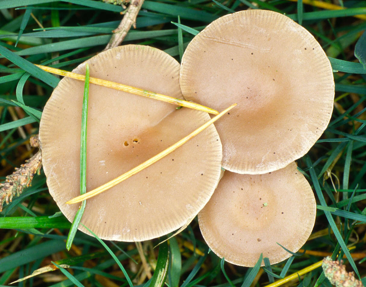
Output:
[[[80,75],[80,74],[76,74],[76,73],[72,73],[72,72],[68,72],[68,71],[64,71],[64,70],[60,70],[60,69],[56,69],[56,68],[51,68],[51,67],[47,67],[47,66],[42,66],[42,65],[36,65],[36,66],[46,72],[50,72],[50,73],[64,76],[64,77],[69,77],[69,78],[80,80],[80,81],[85,81],[84,75]],[[163,102],[173,103],[175,105],[182,106],[182,107],[189,107],[190,109],[200,110],[202,112],[206,112],[206,113],[210,113],[210,114],[219,113],[219,112],[217,112],[217,110],[199,105],[198,103],[184,101],[181,99],[158,94],[156,92],[151,92],[151,91],[147,91],[147,90],[144,90],[141,88],[127,86],[127,85],[116,83],[116,82],[111,82],[111,81],[107,81],[107,80],[90,77],[89,83],[97,84],[97,85],[108,87],[108,88],[113,88],[113,89],[124,91],[124,92],[129,92],[131,94],[140,95],[143,97],[157,99],[157,100],[163,101]]]

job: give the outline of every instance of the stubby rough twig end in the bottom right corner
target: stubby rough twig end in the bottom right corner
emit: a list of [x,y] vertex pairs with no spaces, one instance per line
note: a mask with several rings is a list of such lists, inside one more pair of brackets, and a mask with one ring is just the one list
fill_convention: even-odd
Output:
[[336,287],[362,287],[363,284],[354,276],[354,272],[347,272],[343,260],[332,261],[330,256],[323,259],[322,268],[330,283]]

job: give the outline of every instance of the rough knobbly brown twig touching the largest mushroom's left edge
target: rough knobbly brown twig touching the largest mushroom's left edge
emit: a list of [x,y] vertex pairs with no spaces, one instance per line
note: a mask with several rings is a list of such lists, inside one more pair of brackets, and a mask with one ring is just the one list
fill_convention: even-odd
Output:
[[[31,137],[30,144],[33,147],[39,147],[38,136]],[[9,204],[15,195],[21,195],[23,189],[31,185],[34,175],[40,174],[41,166],[42,154],[39,150],[25,164],[19,168],[16,167],[14,173],[6,177],[5,182],[0,183],[0,212],[3,210],[4,201]]]

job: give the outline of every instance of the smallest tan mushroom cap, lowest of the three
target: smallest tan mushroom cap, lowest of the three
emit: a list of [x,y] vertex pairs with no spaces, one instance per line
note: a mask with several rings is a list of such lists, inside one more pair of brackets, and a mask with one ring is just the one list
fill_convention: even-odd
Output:
[[214,253],[253,267],[261,253],[271,264],[291,256],[277,242],[298,251],[311,234],[315,212],[313,191],[293,162],[266,174],[225,171],[198,222]]

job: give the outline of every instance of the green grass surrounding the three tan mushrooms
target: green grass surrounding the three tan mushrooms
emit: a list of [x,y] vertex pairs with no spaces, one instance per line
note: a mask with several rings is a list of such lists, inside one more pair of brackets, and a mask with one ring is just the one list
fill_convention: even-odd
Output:
[[[137,18],[137,29],[131,29],[124,44],[154,46],[179,61],[194,34],[214,19],[248,7],[285,13],[309,30],[329,56],[336,95],[335,109],[324,135],[297,161],[318,204],[313,234],[303,248],[333,254],[333,258],[338,252],[345,254],[348,271],[353,269],[356,276],[364,278],[366,34],[360,37],[366,21],[352,15],[366,14],[366,1],[342,2],[350,7],[330,11],[286,0],[146,0]],[[22,6],[15,6],[19,4]],[[14,167],[29,158],[27,143],[32,134],[38,133],[41,111],[60,80],[32,63],[52,64],[71,71],[104,48],[111,31],[119,24],[122,8],[94,0],[3,0],[0,9],[3,9],[0,12],[0,177],[3,181]],[[338,193],[330,179],[324,178],[330,168]],[[71,223],[57,212],[44,173],[36,175],[32,186],[14,197],[12,203],[4,204],[0,213],[0,286],[8,286],[45,265],[54,266],[52,261],[70,268],[48,272],[48,278],[56,280],[52,283],[46,282],[45,277],[35,276],[12,286],[112,286],[112,283],[163,286],[164,280],[169,287],[265,286],[323,258],[323,254],[300,253],[282,263],[268,265],[267,262],[265,268],[231,265],[209,252],[194,219],[187,229],[169,239],[168,245],[154,249],[161,239],[142,243],[153,274],[149,280],[144,276],[134,243],[105,241],[106,249],[98,238],[78,231],[74,245],[67,251]],[[354,249],[349,252],[346,246]],[[352,260],[352,253],[360,255]],[[330,286],[321,268],[316,268],[291,286],[321,283]]]

